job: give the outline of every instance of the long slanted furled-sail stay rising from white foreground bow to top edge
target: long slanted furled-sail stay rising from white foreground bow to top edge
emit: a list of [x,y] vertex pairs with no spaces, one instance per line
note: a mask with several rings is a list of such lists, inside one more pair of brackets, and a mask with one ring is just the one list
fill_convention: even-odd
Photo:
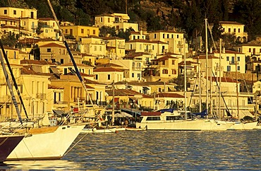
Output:
[[68,44],[67,44],[67,42],[66,42],[65,36],[63,35],[63,31],[61,30],[61,26],[59,25],[59,21],[58,21],[58,19],[56,18],[56,14],[54,13],[54,8],[52,8],[51,2],[50,2],[49,0],[47,0],[47,2],[48,2],[49,7],[50,7],[50,9],[51,9],[51,13],[52,13],[53,16],[54,16],[54,20],[55,20],[55,22],[56,22],[56,24],[57,24],[57,26],[58,26],[58,28],[59,28],[59,31],[60,31],[60,33],[61,33],[61,36],[62,36],[62,39],[63,39],[63,43],[64,43],[64,45],[66,46],[66,49],[67,49],[67,51],[68,51],[68,54],[70,55],[71,61],[72,61],[72,63],[73,63],[74,69],[75,69],[75,71],[76,71],[76,75],[78,76],[78,78],[79,78],[79,80],[80,80],[80,83],[82,83],[83,88],[84,88],[85,92],[87,93],[88,98],[90,99],[90,102],[91,102],[91,104],[92,104],[92,107],[93,107],[93,109],[95,110],[95,107],[94,107],[93,102],[92,102],[92,98],[90,98],[90,94],[88,93],[88,90],[87,90],[87,87],[85,86],[85,83],[84,83],[84,81],[83,81],[83,78],[80,76],[80,72],[79,72],[79,70],[78,70],[78,67],[77,67],[77,65],[76,65],[76,63],[75,63],[75,60],[73,59],[73,54],[71,54],[71,50],[70,50],[70,48],[68,47]]

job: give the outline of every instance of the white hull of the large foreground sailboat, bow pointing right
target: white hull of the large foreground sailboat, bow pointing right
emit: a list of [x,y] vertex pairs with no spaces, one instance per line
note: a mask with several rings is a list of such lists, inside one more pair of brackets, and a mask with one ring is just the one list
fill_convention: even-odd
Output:
[[61,159],[84,126],[57,126],[53,132],[26,136],[8,155],[7,160]]

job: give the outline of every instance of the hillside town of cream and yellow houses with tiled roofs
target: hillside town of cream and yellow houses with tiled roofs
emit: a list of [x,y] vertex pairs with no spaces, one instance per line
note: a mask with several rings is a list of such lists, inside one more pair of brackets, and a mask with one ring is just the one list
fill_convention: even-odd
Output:
[[[40,118],[92,107],[100,111],[105,108],[107,114],[112,110],[139,113],[164,108],[184,110],[184,105],[201,112],[199,105],[207,99],[213,115],[219,110],[222,116],[229,110],[232,117],[239,118],[258,114],[261,44],[246,43],[248,33],[243,24],[219,22],[224,33],[245,42],[234,51],[213,46],[204,52],[201,48],[205,40],[193,51],[183,32],[147,32],[129,19],[126,13],[104,13],[95,16],[93,26],[59,21],[63,34],[73,37],[67,41],[87,94],[75,75],[54,18],[37,18],[35,8],[1,7],[1,37],[19,35],[20,47],[4,48],[28,114]],[[39,23],[44,23],[40,34],[36,31]],[[128,41],[109,35],[99,37],[102,26],[132,31]],[[0,76],[0,119],[16,118],[2,69]]]

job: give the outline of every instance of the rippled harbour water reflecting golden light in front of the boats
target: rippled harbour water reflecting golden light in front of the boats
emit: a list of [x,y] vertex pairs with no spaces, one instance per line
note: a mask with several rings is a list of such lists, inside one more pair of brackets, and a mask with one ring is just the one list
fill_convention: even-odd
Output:
[[261,170],[261,130],[80,134],[62,160],[6,162],[2,170]]

